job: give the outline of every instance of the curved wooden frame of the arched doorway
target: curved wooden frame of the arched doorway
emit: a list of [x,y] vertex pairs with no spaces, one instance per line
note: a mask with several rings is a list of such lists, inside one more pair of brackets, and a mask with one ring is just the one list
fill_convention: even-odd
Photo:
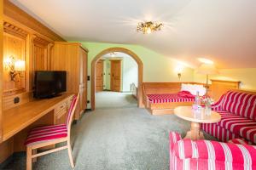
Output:
[[103,55],[120,52],[130,55],[133,59],[136,60],[138,65],[138,87],[137,87],[137,105],[138,107],[143,107],[143,62],[133,53],[131,50],[126,48],[108,48],[103,50],[101,53],[97,54],[96,57],[91,61],[91,84],[90,84],[90,104],[91,110],[95,110],[95,93],[96,93],[96,62]]

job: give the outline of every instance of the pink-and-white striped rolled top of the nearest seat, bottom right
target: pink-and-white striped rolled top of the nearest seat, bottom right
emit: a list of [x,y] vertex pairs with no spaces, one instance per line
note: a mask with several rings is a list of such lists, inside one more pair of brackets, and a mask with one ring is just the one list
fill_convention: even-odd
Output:
[[172,153],[179,159],[206,159],[255,166],[256,147],[242,144],[226,144],[217,141],[183,139],[174,144]]

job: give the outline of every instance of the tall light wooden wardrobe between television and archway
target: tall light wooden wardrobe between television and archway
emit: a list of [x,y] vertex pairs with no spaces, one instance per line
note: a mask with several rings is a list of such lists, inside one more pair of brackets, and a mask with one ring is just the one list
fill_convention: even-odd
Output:
[[87,106],[87,54],[79,42],[55,42],[50,69],[67,71],[67,93],[79,93],[75,120],[79,120]]

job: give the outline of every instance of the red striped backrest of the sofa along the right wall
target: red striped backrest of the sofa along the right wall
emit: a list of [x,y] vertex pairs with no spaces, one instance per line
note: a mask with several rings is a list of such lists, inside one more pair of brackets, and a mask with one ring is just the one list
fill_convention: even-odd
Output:
[[228,92],[225,95],[223,110],[237,116],[256,121],[256,95],[241,92]]

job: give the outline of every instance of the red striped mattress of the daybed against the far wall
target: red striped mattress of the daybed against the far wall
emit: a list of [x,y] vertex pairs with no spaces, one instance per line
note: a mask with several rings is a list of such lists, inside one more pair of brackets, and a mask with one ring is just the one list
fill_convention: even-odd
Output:
[[168,102],[189,102],[194,101],[195,98],[182,97],[177,94],[148,94],[148,101],[150,103],[168,103]]

